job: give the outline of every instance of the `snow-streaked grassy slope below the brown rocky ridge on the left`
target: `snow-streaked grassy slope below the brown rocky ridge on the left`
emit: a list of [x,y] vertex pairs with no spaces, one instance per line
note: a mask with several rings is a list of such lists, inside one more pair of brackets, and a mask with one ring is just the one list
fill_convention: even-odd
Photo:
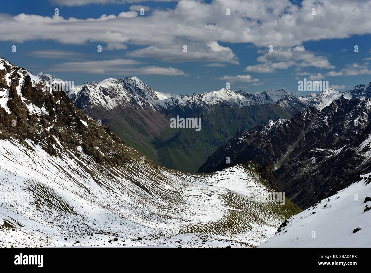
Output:
[[26,142],[34,152],[0,141],[0,246],[103,246],[113,237],[129,242],[183,233],[257,245],[289,213],[285,206],[255,201],[256,194],[272,190],[251,167],[191,175],[132,160],[112,169],[90,163],[86,172],[86,155],[50,157]]

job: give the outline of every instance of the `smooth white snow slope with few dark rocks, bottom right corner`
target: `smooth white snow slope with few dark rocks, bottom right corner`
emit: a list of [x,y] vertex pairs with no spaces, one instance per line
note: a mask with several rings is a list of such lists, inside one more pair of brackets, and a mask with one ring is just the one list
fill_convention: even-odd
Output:
[[370,247],[370,182],[371,173],[361,175],[360,181],[289,218],[260,247]]

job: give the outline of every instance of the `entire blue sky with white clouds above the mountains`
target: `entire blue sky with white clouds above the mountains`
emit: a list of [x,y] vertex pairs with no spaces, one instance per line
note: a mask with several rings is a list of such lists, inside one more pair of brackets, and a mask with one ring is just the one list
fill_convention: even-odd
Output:
[[283,88],[306,95],[298,92],[304,78],[328,80],[340,91],[371,81],[367,1],[273,2],[7,1],[0,56],[75,84],[135,75],[156,91],[177,94],[230,82],[249,93]]

